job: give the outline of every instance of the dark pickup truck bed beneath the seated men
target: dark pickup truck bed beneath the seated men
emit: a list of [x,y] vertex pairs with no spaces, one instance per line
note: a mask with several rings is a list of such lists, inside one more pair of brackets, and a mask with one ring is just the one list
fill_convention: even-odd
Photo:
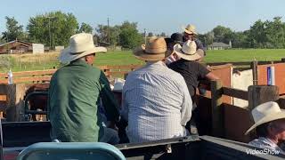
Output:
[[[50,141],[48,122],[3,123],[4,159],[11,160],[36,142]],[[126,159],[284,159],[284,155],[250,155],[245,143],[210,136],[189,136],[137,144],[119,144]]]

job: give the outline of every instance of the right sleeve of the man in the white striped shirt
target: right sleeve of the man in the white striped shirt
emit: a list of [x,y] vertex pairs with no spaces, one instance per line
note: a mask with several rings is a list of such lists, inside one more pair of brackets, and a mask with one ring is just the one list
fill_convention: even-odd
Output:
[[180,88],[183,93],[183,103],[181,106],[181,124],[183,126],[186,126],[187,122],[191,119],[192,100],[184,79],[182,79],[180,84]]

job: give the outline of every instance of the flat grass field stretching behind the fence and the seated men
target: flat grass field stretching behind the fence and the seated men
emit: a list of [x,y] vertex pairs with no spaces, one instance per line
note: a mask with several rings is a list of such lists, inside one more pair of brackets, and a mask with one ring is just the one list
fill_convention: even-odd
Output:
[[[59,53],[46,54],[22,54],[22,55],[0,55],[0,72],[21,70],[42,70],[48,68],[59,68],[61,65],[57,60]],[[218,50],[208,51],[206,62],[228,62],[228,61],[252,61],[256,60],[281,60],[285,58],[285,49],[281,50]],[[143,64],[142,60],[134,58],[131,51],[107,52],[96,54],[95,65],[127,65]]]

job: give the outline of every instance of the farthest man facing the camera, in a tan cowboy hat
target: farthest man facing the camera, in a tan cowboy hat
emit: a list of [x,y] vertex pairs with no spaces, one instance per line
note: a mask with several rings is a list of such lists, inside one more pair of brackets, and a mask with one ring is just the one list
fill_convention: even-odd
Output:
[[183,30],[183,42],[186,42],[188,40],[194,41],[197,45],[197,50],[200,49],[197,52],[203,53],[204,56],[206,56],[206,49],[201,43],[201,41],[199,41],[199,39],[196,38],[197,35],[198,33],[196,32],[196,27],[194,25],[189,24]]

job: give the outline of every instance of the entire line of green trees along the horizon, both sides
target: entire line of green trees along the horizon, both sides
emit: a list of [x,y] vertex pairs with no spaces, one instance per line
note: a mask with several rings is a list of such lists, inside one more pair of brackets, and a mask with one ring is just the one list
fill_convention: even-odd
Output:
[[[13,17],[5,19],[7,30],[2,32],[0,43],[19,39],[45,46],[67,46],[70,36],[85,32],[94,34],[96,44],[133,49],[143,43],[144,36],[167,36],[164,32],[158,35],[152,32],[140,33],[137,23],[129,21],[115,26],[99,24],[96,28],[84,22],[79,25],[72,13],[64,12],[47,12],[30,17],[26,31]],[[231,41],[232,48],[285,48],[285,23],[281,17],[275,17],[273,20],[257,20],[245,31],[232,31],[231,28],[217,26],[206,34],[200,34],[198,38],[205,45],[214,42],[229,44]]]

